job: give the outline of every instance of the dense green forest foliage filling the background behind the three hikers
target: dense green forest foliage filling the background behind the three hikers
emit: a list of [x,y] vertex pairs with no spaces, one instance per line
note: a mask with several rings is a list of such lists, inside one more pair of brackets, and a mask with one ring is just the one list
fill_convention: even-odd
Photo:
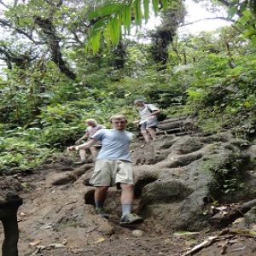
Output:
[[[36,35],[37,42],[15,32],[8,42],[1,42],[14,57],[22,53],[30,61],[4,70],[0,81],[0,172],[36,168],[51,154],[65,150],[84,134],[85,119],[94,118],[108,127],[113,113],[137,119],[133,101],[141,97],[171,117],[196,116],[203,131],[232,129],[236,136],[253,138],[256,41],[253,33],[249,35],[255,15],[251,8],[242,9],[236,29],[173,37],[162,68],[152,59],[150,43],[122,38],[121,45],[120,38],[129,34],[131,26],[148,20],[150,9],[156,14],[179,4],[158,0],[58,3],[32,0],[6,12],[11,24],[26,35]],[[61,55],[76,79],[67,79],[49,60],[50,33],[35,25],[35,16],[52,22]],[[93,55],[84,51],[84,42]],[[124,46],[122,52],[119,46]],[[128,129],[135,129],[132,122]],[[224,185],[232,189],[232,182],[236,183],[230,179]]]

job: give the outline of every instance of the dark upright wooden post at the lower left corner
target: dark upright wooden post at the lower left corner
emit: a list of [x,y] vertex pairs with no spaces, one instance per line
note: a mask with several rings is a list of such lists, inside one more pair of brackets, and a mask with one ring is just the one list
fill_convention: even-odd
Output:
[[14,192],[0,196],[0,220],[3,224],[4,239],[2,256],[18,256],[19,229],[17,221],[18,208],[22,199]]

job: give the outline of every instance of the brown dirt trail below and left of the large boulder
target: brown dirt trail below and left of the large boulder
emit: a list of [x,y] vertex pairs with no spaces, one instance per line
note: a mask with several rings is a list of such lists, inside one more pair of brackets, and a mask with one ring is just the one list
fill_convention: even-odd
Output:
[[[167,128],[171,132],[171,128]],[[169,135],[163,133],[159,132],[159,136],[168,138]],[[152,154],[150,159],[160,161],[162,154],[157,151],[150,153],[150,148],[154,150],[154,145],[144,146],[143,141],[138,139],[132,151],[137,151],[136,155],[139,156],[146,150],[148,154]],[[145,161],[147,159],[144,159],[144,164],[150,164]],[[137,166],[142,164],[141,159],[137,158]],[[20,256],[185,255],[184,253],[205,241],[207,237],[218,234],[217,231],[208,230],[178,233],[168,226],[168,222],[165,227],[160,225],[157,220],[159,216],[147,218],[147,215],[143,216],[143,224],[130,228],[120,227],[120,192],[114,188],[108,191],[106,201],[110,211],[109,221],[100,218],[95,214],[92,205],[94,189],[87,186],[92,169],[93,164],[77,168],[73,166],[68,155],[63,155],[42,166],[38,172],[9,177],[6,182],[10,186],[20,186],[19,195],[24,199],[18,212]],[[3,181],[3,177],[1,180]],[[140,199],[137,198],[133,206],[136,212],[140,210],[139,204]],[[167,220],[168,212],[163,216]],[[141,230],[140,236],[135,236],[134,230]],[[2,227],[0,241],[3,241]],[[211,246],[203,248],[195,255],[221,254],[256,255],[255,238],[226,232],[212,242]]]

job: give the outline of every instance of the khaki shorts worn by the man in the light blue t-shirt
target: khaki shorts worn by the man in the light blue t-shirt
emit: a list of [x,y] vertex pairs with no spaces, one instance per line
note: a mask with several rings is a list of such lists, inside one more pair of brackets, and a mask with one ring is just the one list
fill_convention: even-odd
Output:
[[96,160],[90,184],[95,187],[133,184],[131,162],[123,160]]

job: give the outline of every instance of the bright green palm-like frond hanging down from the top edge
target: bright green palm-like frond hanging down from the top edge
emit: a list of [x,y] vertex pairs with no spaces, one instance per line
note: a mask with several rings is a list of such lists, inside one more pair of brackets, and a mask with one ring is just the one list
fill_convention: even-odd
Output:
[[[152,0],[154,14],[160,11],[160,6],[167,8],[167,0]],[[100,49],[101,35],[104,35],[107,44],[117,45],[121,38],[122,26],[125,32],[130,32],[131,17],[134,17],[135,24],[141,26],[143,18],[148,20],[150,1],[125,0],[114,3],[102,3],[96,9],[90,11],[89,20],[96,20],[90,28],[90,38],[87,49],[92,49],[93,54]]]

